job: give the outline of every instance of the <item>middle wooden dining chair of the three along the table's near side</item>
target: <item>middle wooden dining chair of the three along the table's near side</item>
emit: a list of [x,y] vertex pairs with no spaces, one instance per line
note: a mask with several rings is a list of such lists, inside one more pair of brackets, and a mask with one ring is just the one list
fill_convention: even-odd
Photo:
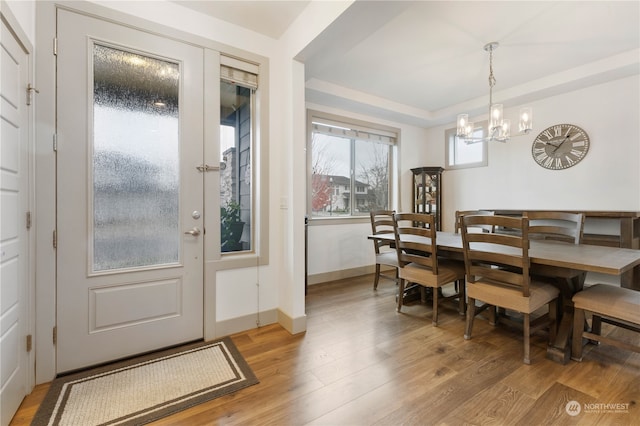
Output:
[[[458,312],[465,312],[464,263],[438,258],[435,216],[425,213],[396,213],[394,233],[400,277],[398,308],[402,310],[406,282],[432,288],[432,323],[438,325],[438,307],[444,301],[458,301]],[[452,284],[453,291],[444,295],[443,287]],[[440,294],[442,293],[442,294]]]

